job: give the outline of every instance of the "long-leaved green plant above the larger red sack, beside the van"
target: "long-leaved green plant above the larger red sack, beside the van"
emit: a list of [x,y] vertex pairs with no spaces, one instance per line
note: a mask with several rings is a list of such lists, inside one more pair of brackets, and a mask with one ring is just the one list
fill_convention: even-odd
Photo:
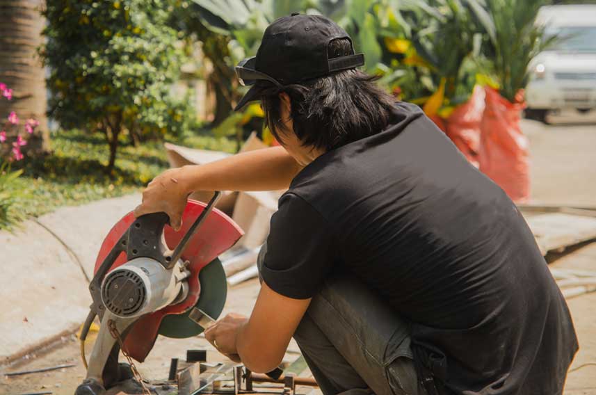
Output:
[[528,83],[531,60],[557,40],[545,37],[544,27],[535,25],[538,9],[550,1],[485,1],[495,31],[485,54],[492,61],[501,95],[515,102],[517,92]]

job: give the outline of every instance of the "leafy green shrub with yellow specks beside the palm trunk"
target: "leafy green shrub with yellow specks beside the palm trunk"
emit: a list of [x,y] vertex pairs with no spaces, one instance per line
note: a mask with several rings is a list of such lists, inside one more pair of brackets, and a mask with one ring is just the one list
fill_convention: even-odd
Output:
[[56,0],[45,10],[49,113],[62,127],[101,131],[112,168],[121,134],[134,142],[181,134],[193,120],[170,93],[185,60],[166,23],[169,0]]

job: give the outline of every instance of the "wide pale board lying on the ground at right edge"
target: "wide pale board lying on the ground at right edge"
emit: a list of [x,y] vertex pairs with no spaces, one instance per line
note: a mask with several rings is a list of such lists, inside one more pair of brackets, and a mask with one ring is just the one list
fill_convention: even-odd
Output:
[[532,229],[542,255],[596,239],[596,218],[591,216],[546,213],[529,216],[526,221]]

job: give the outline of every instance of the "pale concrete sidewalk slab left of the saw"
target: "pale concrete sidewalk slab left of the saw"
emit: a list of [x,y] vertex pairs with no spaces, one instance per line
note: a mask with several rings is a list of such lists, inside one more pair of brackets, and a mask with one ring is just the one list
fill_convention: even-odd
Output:
[[63,207],[0,232],[0,364],[30,353],[84,321],[87,290],[104,236],[140,194]]

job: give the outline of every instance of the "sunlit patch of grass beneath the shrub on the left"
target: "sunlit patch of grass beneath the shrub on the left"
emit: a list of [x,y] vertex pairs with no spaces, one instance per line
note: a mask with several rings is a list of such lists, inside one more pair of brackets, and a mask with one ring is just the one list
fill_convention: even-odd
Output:
[[[185,136],[172,143],[207,150],[234,152],[236,143],[227,138]],[[15,191],[11,210],[18,216],[40,216],[58,207],[85,204],[143,190],[168,168],[163,142],[138,147],[121,145],[115,169],[105,171],[108,145],[100,134],[58,131],[51,136],[52,154],[42,159],[25,158],[23,174],[10,189]],[[16,193],[17,192],[17,193]]]

